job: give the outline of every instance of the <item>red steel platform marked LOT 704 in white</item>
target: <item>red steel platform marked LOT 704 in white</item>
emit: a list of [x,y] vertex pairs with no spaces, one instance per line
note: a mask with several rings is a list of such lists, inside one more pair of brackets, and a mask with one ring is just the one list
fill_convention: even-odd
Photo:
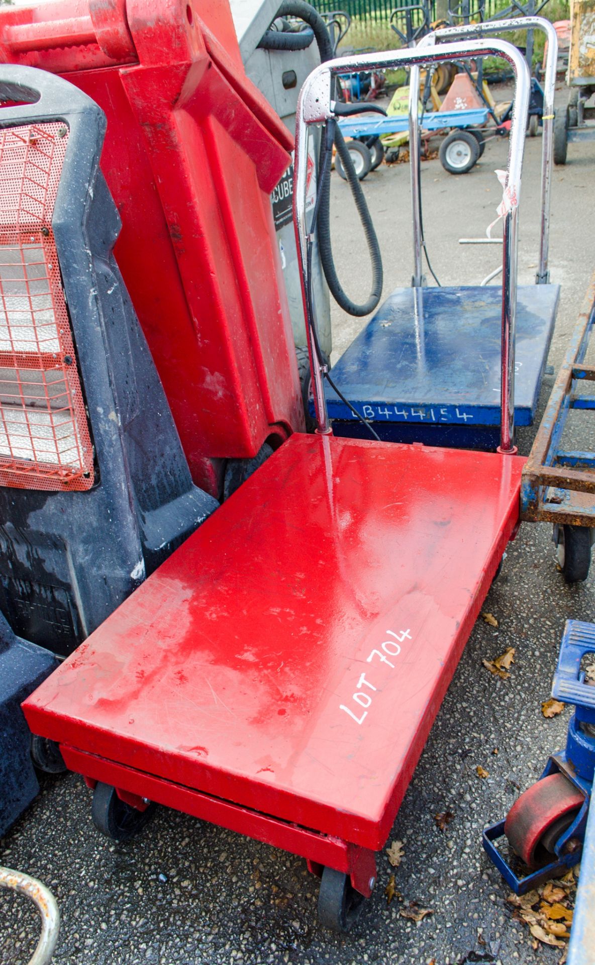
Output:
[[382,847],[524,461],[293,435],[24,703],[32,731],[179,810]]

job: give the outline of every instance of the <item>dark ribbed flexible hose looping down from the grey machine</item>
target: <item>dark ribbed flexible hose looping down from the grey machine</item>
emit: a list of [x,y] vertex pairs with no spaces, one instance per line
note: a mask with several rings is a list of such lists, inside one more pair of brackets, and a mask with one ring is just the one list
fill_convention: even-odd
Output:
[[[318,47],[318,52],[320,54],[321,63],[333,59],[333,45],[329,37],[326,23],[320,14],[318,14],[317,11],[311,7],[311,4],[306,2],[306,0],[284,0],[281,7],[277,11],[276,17],[278,16],[296,16],[304,20],[305,23],[311,27],[313,32],[314,39]],[[268,43],[269,37],[272,36],[279,38],[283,36],[288,37],[291,35],[288,33],[284,34],[281,31],[267,30],[263,41]],[[299,37],[300,35],[295,34],[293,36]],[[260,41],[259,45],[262,45],[262,41]],[[364,304],[358,305],[352,301],[352,299],[349,298],[345,293],[338,280],[331,244],[331,168],[330,164],[324,165],[322,163],[323,154],[326,151],[324,147],[324,137],[322,139],[320,149],[319,163],[320,183],[318,186],[318,192],[321,195],[321,198],[320,205],[317,206],[318,211],[315,218],[315,224],[318,232],[320,262],[322,264],[322,270],[324,272],[327,285],[329,286],[329,290],[331,291],[335,301],[348,315],[361,317],[373,312],[380,301],[383,286],[382,258],[380,255],[378,238],[376,237],[372,219],[365,202],[364,191],[362,190],[360,180],[355,173],[351,154],[349,153],[338,125],[335,125],[335,146],[337,148],[347,182],[351,188],[358,214],[360,216],[360,221],[362,222],[362,227],[364,228],[365,241],[370,255],[370,262],[372,266],[372,284],[369,296]]]

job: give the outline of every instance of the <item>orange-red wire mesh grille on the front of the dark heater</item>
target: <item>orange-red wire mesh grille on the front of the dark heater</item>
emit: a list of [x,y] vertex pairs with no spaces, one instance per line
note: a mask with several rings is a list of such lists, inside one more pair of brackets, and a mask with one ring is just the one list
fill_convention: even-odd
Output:
[[67,143],[65,124],[0,130],[0,485],[94,482],[51,224]]

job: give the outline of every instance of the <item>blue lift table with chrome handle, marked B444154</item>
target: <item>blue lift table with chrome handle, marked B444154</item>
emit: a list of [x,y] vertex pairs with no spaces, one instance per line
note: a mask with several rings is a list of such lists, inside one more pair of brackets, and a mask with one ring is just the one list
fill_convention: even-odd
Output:
[[[515,252],[512,277],[508,280],[509,273],[504,272],[506,287],[510,285],[504,298],[499,285],[422,286],[421,250],[424,242],[419,190],[419,68],[412,67],[407,123],[414,222],[413,286],[392,292],[333,368],[333,382],[341,395],[351,402],[381,439],[466,449],[490,450],[499,446],[501,333],[508,331],[508,321],[502,317],[502,305],[507,299],[511,304],[516,303],[516,322],[509,328],[513,345],[506,348],[506,351],[510,347],[514,352],[514,376],[505,387],[505,394],[510,398],[510,408],[514,399],[513,424],[530,426],[533,422],[559,298],[559,287],[548,284],[557,42],[554,29],[543,18],[526,18],[521,22],[544,30],[548,37],[536,284],[516,286]],[[471,37],[518,27],[518,19],[509,19],[446,28],[428,34],[419,45],[435,51],[439,41],[452,40],[455,35]],[[517,108],[515,105],[515,111]],[[424,115],[421,123],[426,126],[426,120],[431,117]],[[362,119],[354,120],[362,123]],[[382,127],[393,121],[393,118],[366,119],[365,124]],[[341,119],[343,133],[352,133],[348,125],[353,123]],[[401,119],[401,124],[404,123]],[[522,156],[521,149],[517,157],[519,174]],[[508,183],[502,200],[504,210],[516,209],[518,197]],[[515,210],[515,218],[517,213]],[[504,250],[504,262],[511,261],[511,254],[511,250]],[[367,427],[326,381],[325,399],[335,435],[365,437],[369,434]]]

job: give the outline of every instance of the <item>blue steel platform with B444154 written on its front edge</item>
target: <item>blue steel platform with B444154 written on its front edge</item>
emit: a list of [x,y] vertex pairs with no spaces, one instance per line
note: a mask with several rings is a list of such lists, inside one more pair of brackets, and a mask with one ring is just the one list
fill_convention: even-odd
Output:
[[[518,289],[515,424],[532,423],[559,297]],[[333,380],[381,439],[495,449],[500,441],[500,287],[397,289],[347,348]],[[326,385],[333,430],[369,433]]]

